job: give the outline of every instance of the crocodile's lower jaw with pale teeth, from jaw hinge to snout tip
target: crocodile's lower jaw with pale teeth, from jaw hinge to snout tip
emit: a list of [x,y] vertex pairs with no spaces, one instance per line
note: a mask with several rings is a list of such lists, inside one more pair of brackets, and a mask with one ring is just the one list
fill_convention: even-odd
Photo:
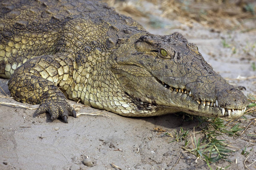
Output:
[[[123,65],[115,69],[112,68],[112,72],[123,87],[122,90],[129,95],[131,99],[129,105],[135,105],[133,110],[125,113],[118,112],[118,114],[124,116],[146,117],[185,112],[204,117],[228,117],[233,119],[241,117],[246,110],[246,107],[243,109],[221,107],[218,100],[215,102],[195,100],[191,91],[173,88],[159,82],[147,70],[138,66]],[[141,85],[143,79],[147,79],[150,84]],[[145,94],[145,92],[148,93]]]

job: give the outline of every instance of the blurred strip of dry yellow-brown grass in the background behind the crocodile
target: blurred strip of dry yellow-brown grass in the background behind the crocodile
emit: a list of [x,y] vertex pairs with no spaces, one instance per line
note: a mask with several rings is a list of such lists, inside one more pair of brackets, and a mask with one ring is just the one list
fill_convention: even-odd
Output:
[[[159,15],[161,17],[178,20],[188,26],[199,22],[203,26],[221,29],[247,29],[245,20],[256,20],[256,2],[253,0],[138,0],[118,1],[104,0],[109,6],[125,15],[132,17],[145,17]],[[145,2],[153,3],[153,8],[147,13]],[[254,28],[255,29],[255,28]]]

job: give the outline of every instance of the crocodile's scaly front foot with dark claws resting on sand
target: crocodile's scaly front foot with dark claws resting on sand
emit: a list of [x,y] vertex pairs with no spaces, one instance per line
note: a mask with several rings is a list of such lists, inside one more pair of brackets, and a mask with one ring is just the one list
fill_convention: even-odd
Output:
[[76,111],[66,101],[43,101],[39,108],[33,114],[33,117],[48,112],[52,120],[61,117],[65,123],[68,123],[68,116],[76,118]]

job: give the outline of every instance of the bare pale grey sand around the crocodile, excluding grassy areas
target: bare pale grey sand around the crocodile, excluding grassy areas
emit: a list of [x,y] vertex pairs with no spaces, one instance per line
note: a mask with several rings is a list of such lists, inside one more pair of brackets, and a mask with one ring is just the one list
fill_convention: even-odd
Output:
[[[143,9],[141,9],[143,10]],[[145,9],[146,10],[146,9]],[[179,21],[155,16],[161,27],[153,27],[148,17],[136,17],[143,26],[153,34],[171,34],[181,32],[190,42],[198,45],[199,51],[215,71],[227,78],[235,86],[244,86],[245,95],[256,94],[256,71],[252,63],[256,62],[256,30],[219,31],[194,23],[186,25]],[[247,21],[248,24],[252,21]],[[223,43],[226,45],[223,45]],[[254,76],[254,77],[253,77]],[[8,95],[6,79],[0,79],[0,86]],[[21,104],[10,97],[4,97],[1,91],[0,102]],[[71,104],[76,104],[70,101]],[[26,107],[36,107],[22,104]],[[100,115],[81,115],[69,117],[68,124],[62,120],[51,121],[47,114],[33,118],[33,112],[19,106],[0,105],[0,169],[50,169],[50,170],[193,170],[209,169],[207,164],[196,156],[184,152],[183,142],[172,142],[174,138],[153,131],[160,127],[166,132],[175,134],[179,127],[193,131],[198,121],[184,121],[182,114],[168,114],[149,118],[129,118],[107,111],[83,107],[79,113],[100,113]],[[241,127],[246,127],[255,113],[240,120]],[[200,131],[195,128],[195,131]],[[242,150],[253,149],[245,162],[246,165],[256,159],[255,124],[252,123],[242,136],[222,135],[220,138],[235,152],[228,156],[231,163],[219,161],[211,164],[213,169],[245,169],[246,157]],[[248,136],[248,134],[254,134]],[[197,134],[200,137],[202,134]],[[193,146],[189,144],[191,148]],[[94,166],[87,167],[81,162],[90,157]],[[237,163],[236,163],[237,161]],[[112,163],[112,165],[111,165]],[[254,163],[249,169],[256,169]]]

